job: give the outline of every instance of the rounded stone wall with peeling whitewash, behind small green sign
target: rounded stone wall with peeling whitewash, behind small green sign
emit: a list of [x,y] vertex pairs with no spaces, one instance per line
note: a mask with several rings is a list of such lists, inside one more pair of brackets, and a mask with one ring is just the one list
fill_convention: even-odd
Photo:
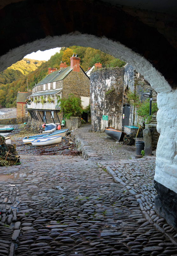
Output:
[[[101,68],[90,74],[90,107],[93,131],[122,126],[123,69]],[[102,116],[108,116],[103,121]]]

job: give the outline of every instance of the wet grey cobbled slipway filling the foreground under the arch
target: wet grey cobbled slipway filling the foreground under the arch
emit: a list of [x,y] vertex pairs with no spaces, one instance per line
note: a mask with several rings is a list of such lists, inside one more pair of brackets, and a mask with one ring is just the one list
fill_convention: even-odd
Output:
[[95,160],[23,155],[1,167],[0,256],[177,255],[176,230],[154,210],[155,159],[118,159],[93,134]]

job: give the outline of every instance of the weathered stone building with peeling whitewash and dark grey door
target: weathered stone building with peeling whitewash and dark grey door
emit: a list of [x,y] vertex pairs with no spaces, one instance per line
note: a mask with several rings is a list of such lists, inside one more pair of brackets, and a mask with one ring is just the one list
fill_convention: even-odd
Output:
[[[144,92],[152,91],[153,102],[157,93],[151,85],[129,64],[123,68],[94,69],[90,74],[90,105],[93,131],[104,131],[110,126],[136,136],[138,125],[143,119],[136,114],[136,108],[127,102],[126,92],[136,92],[141,101]],[[156,130],[156,114],[152,116],[150,128],[153,149],[157,147],[159,133]]]

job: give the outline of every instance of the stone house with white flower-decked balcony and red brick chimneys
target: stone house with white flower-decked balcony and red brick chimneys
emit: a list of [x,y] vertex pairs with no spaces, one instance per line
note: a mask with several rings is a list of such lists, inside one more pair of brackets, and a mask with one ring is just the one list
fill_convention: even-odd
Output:
[[33,119],[46,123],[60,123],[63,113],[58,100],[73,93],[80,97],[82,107],[89,105],[90,79],[80,67],[80,58],[72,56],[71,65],[60,64],[60,69],[48,68],[48,75],[32,88],[28,112]]

